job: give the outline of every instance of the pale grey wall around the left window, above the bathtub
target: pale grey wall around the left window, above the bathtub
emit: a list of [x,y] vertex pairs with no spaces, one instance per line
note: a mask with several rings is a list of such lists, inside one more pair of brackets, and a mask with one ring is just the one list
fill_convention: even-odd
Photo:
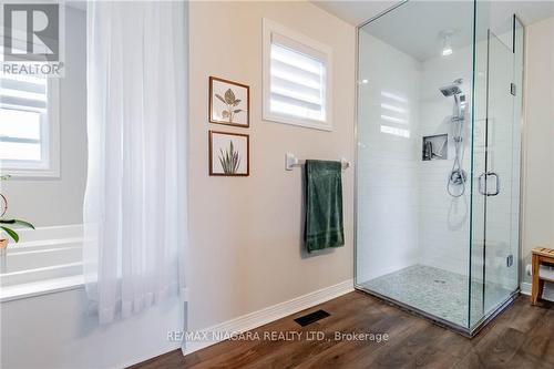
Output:
[[65,10],[65,76],[60,81],[60,177],[2,182],[10,216],[35,226],[82,223],[86,181],[86,18]]

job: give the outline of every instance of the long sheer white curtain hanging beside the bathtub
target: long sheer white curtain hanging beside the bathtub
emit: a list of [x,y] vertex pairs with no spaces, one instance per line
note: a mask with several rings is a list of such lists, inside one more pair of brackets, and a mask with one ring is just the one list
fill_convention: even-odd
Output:
[[89,2],[83,258],[101,322],[185,296],[186,11]]

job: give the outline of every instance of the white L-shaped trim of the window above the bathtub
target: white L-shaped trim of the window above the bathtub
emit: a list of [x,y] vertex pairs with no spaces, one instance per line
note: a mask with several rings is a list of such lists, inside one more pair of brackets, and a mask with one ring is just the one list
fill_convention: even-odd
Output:
[[60,80],[57,78],[48,80],[47,114],[48,124],[41,123],[43,167],[38,167],[34,162],[3,160],[3,175],[8,174],[14,178],[60,177]]

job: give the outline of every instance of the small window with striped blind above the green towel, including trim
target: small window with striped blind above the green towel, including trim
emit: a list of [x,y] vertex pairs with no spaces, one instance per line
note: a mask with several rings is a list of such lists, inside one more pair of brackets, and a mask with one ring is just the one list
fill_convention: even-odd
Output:
[[264,119],[331,131],[331,49],[264,19]]

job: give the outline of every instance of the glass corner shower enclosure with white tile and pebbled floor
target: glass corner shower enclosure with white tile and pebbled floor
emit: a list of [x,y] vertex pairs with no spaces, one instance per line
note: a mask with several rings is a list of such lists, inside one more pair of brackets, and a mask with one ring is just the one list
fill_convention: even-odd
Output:
[[484,1],[358,28],[356,288],[466,336],[519,293],[523,32]]

